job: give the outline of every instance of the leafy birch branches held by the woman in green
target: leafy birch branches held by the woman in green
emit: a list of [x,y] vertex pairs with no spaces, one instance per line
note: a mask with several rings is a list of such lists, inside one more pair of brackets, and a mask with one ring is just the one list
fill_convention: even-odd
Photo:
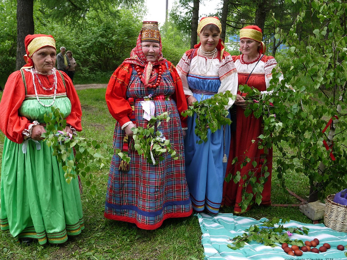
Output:
[[93,175],[89,174],[91,165],[97,165],[100,169],[109,165],[113,148],[98,140],[88,140],[65,132],[66,120],[60,110],[52,106],[51,111],[44,116],[46,123],[46,132],[42,135],[44,141],[53,149],[53,155],[61,163],[66,182],[69,183],[77,175],[88,177],[86,184],[91,186],[91,193],[95,193],[96,185],[91,185]]

